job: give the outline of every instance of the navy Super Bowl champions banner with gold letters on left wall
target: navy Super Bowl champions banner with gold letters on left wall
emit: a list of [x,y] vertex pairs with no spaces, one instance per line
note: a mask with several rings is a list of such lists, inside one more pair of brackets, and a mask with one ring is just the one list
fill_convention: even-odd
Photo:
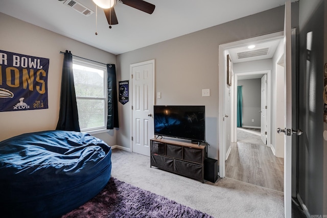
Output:
[[0,112],[48,108],[49,59],[0,50]]

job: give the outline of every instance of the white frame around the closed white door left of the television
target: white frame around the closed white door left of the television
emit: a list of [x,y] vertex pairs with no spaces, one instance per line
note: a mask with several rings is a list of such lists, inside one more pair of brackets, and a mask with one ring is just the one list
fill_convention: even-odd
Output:
[[152,100],[153,100],[153,105],[156,104],[155,102],[155,59],[152,60],[148,60],[148,61],[143,61],[143,62],[138,62],[138,63],[134,63],[134,64],[130,64],[129,65],[129,78],[130,78],[130,88],[129,88],[129,101],[131,102],[131,107],[130,107],[130,152],[133,152],[133,141],[132,141],[132,137],[133,137],[133,67],[136,66],[142,66],[142,65],[146,65],[146,64],[150,64],[152,63]]

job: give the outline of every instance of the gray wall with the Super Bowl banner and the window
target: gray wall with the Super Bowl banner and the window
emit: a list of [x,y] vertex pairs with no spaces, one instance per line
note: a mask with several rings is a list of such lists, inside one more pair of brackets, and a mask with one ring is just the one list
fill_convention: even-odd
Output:
[[[22,133],[54,130],[59,117],[59,100],[63,55],[59,52],[72,51],[73,55],[115,63],[113,54],[69,39],[54,32],[31,25],[0,13],[0,49],[18,54],[49,58],[48,99],[49,109],[32,111],[0,112],[0,141]],[[116,143],[115,130],[97,134],[109,145]]]

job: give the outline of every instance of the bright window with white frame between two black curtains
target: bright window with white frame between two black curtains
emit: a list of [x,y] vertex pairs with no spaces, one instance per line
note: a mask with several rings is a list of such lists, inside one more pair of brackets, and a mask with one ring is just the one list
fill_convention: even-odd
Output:
[[81,132],[106,129],[107,68],[73,59],[73,71]]

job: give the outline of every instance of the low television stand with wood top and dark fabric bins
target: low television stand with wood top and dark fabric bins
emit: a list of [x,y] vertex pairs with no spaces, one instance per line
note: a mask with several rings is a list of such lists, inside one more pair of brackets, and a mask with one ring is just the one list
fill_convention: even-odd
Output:
[[204,182],[206,146],[178,139],[150,139],[150,167]]

